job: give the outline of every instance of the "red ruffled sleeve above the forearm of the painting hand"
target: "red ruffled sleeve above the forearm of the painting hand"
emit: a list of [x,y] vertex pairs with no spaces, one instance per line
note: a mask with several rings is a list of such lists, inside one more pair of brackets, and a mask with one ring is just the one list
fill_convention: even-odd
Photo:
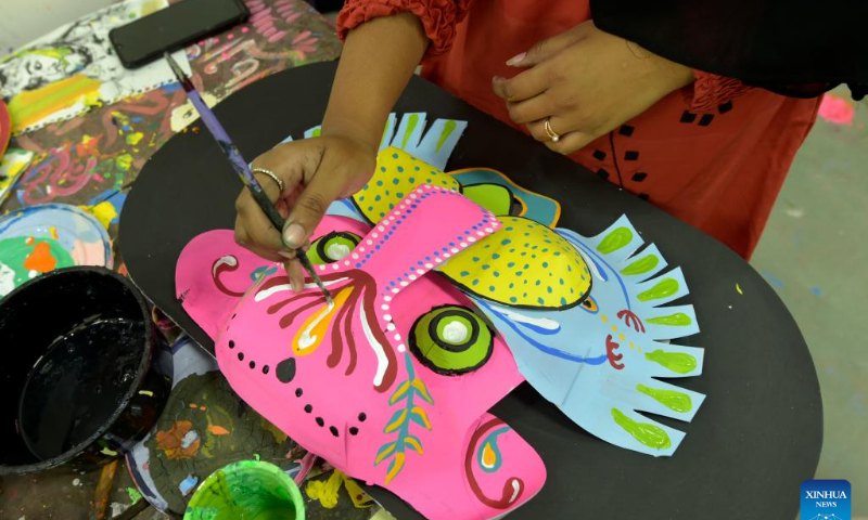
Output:
[[373,18],[410,12],[419,16],[431,39],[425,57],[445,53],[455,40],[455,30],[472,0],[347,0],[337,15],[337,36]]

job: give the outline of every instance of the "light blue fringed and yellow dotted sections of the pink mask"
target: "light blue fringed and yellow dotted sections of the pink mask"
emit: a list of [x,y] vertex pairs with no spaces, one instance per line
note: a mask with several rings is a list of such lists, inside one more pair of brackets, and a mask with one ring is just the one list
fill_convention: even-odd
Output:
[[[420,140],[433,141],[414,135],[408,142]],[[391,144],[403,143],[397,132]],[[430,146],[413,150],[431,154]],[[704,400],[654,379],[702,373],[702,349],[669,343],[699,332],[691,306],[663,307],[688,294],[680,270],[661,275],[666,262],[654,246],[636,255],[643,242],[626,217],[591,238],[552,231],[560,205],[502,173],[444,173],[414,161],[400,150],[381,152],[368,185],[330,212],[375,222],[417,182],[461,191],[488,208],[502,229],[437,270],[476,301],[522,375],[577,425],[622,447],[672,455],[684,433],[637,411],[689,421]]]

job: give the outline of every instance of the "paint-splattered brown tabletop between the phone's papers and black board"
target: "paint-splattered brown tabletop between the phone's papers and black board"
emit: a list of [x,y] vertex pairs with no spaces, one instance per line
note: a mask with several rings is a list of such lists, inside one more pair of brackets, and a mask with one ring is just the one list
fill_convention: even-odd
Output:
[[[247,0],[251,20],[188,48],[193,82],[213,105],[270,74],[334,60],[341,44],[328,21],[301,0]],[[178,83],[48,125],[12,140],[33,152],[2,212],[46,203],[85,206],[117,236],[126,194],[144,162],[178,132],[201,131]],[[104,203],[101,205],[101,203]],[[115,246],[115,265],[123,263]]]

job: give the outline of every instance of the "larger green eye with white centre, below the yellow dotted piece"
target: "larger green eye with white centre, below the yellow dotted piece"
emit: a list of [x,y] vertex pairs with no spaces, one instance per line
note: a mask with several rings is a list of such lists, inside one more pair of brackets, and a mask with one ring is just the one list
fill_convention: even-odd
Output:
[[494,334],[468,308],[437,307],[413,324],[410,351],[437,374],[456,376],[473,372],[488,361],[494,351]]

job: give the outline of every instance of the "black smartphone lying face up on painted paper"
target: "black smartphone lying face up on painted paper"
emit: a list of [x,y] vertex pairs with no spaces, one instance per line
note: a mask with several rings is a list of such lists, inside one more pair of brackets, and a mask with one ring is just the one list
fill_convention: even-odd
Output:
[[244,22],[250,11],[241,0],[181,0],[108,31],[117,57],[127,68],[140,67],[164,52],[174,52],[206,36]]

